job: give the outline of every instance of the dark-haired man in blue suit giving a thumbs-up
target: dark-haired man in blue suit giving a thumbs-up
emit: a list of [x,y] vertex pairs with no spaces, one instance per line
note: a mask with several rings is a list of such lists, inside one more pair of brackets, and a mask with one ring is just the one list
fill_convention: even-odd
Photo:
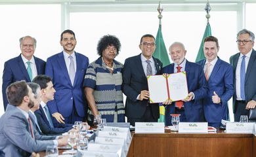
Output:
[[209,92],[203,99],[203,111],[209,126],[220,127],[221,120],[228,119],[228,100],[234,93],[232,66],[217,55],[219,42],[216,37],[204,39],[203,52],[206,59],[198,63],[203,67]]

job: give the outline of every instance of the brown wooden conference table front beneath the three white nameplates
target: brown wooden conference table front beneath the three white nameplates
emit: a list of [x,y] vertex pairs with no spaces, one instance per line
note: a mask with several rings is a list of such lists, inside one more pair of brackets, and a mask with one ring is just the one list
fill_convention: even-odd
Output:
[[133,133],[128,155],[131,156],[256,156],[253,134],[224,133]]

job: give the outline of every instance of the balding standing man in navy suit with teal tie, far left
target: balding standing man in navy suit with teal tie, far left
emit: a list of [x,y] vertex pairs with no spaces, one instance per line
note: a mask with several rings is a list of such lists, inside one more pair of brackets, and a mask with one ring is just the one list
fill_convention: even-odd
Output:
[[7,86],[16,80],[31,82],[35,76],[45,73],[45,61],[33,56],[36,44],[37,41],[33,37],[21,37],[20,56],[5,62],[2,84],[4,109],[6,109],[8,104],[6,96]]

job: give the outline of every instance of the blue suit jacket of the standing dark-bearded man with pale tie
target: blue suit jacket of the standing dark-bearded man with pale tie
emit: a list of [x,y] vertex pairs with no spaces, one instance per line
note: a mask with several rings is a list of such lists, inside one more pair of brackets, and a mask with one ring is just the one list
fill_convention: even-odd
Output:
[[72,86],[68,69],[64,60],[63,52],[55,54],[47,59],[45,75],[50,76],[53,80],[54,100],[49,101],[47,106],[53,113],[60,113],[64,117],[72,114],[73,104],[80,117],[87,116],[88,105],[85,103],[85,94],[83,93],[83,79],[89,64],[89,60],[83,54],[75,52],[76,72],[74,86]]

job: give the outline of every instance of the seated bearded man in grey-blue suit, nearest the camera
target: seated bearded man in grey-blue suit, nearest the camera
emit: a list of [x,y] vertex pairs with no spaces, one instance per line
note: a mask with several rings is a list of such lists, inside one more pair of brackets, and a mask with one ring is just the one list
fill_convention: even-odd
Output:
[[67,137],[56,140],[56,136],[42,136],[35,130],[29,118],[34,95],[25,81],[12,83],[7,88],[9,104],[0,118],[0,150],[5,156],[30,156],[49,146],[68,144]]

